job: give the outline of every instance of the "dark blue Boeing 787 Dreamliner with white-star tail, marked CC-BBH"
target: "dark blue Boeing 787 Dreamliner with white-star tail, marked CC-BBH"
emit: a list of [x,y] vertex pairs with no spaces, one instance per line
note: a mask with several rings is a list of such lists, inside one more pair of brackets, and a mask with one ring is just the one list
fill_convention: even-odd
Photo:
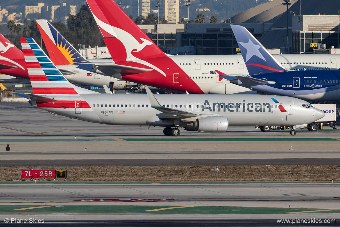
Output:
[[250,77],[227,75],[216,70],[220,77],[265,94],[292,96],[309,101],[340,100],[339,70],[287,70],[248,30],[238,25],[231,27]]

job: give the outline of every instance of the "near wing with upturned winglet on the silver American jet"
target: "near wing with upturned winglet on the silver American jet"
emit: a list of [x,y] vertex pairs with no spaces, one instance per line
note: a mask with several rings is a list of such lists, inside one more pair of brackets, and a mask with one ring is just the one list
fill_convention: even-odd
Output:
[[182,110],[175,110],[172,108],[163,107],[159,102],[157,101],[156,97],[152,94],[150,89],[148,87],[145,88],[148,94],[148,98],[150,100],[152,108],[155,108],[156,110],[162,112],[160,114],[157,114],[159,119],[161,120],[174,120],[174,119],[184,119],[189,117],[198,117],[202,116],[201,114],[195,114],[187,111]]

